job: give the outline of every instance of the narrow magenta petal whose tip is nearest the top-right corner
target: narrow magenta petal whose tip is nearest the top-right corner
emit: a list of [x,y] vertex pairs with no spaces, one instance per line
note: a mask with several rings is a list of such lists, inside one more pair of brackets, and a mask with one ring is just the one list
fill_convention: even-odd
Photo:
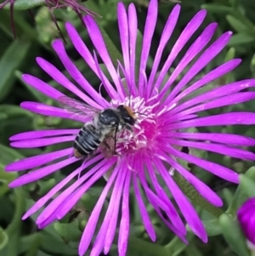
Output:
[[190,82],[190,80],[195,77],[195,75],[201,71],[221,50],[229,43],[232,32],[225,32],[223,35],[218,37],[218,39],[208,47],[203,54],[195,61],[195,64],[190,67],[190,70],[187,71],[184,77],[180,82],[173,88],[173,91],[168,95],[166,104],[169,104],[174,97],[181,91],[184,86]]

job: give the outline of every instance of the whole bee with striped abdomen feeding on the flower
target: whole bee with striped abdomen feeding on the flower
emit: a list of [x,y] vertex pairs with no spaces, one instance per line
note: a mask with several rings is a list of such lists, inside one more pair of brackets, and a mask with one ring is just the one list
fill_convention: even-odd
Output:
[[93,117],[91,122],[83,125],[74,140],[73,154],[77,158],[91,155],[99,146],[106,150],[107,155],[113,156],[116,154],[116,134],[123,129],[133,131],[136,117],[127,105],[99,110],[67,96],[61,96],[58,100],[66,111],[76,116]]

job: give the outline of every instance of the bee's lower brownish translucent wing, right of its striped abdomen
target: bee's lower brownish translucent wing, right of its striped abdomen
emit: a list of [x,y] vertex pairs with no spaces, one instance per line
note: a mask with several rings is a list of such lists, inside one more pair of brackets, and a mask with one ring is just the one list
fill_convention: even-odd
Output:
[[100,145],[105,157],[111,157],[116,154],[116,132],[117,127],[112,128],[111,131],[105,135],[105,139]]

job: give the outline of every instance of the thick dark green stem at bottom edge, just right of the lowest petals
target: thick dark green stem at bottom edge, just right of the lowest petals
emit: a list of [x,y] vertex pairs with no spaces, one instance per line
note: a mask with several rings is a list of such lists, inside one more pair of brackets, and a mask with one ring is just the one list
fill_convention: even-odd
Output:
[[144,255],[151,256],[169,256],[169,250],[161,245],[152,242],[146,242],[136,237],[129,237],[128,247],[132,251],[139,251],[144,253]]

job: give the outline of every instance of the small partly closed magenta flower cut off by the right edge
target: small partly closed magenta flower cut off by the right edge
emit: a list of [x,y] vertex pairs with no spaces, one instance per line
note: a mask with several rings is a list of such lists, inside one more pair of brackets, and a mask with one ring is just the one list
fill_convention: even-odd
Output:
[[241,224],[246,238],[255,245],[255,198],[250,198],[243,203],[237,212],[237,219]]

